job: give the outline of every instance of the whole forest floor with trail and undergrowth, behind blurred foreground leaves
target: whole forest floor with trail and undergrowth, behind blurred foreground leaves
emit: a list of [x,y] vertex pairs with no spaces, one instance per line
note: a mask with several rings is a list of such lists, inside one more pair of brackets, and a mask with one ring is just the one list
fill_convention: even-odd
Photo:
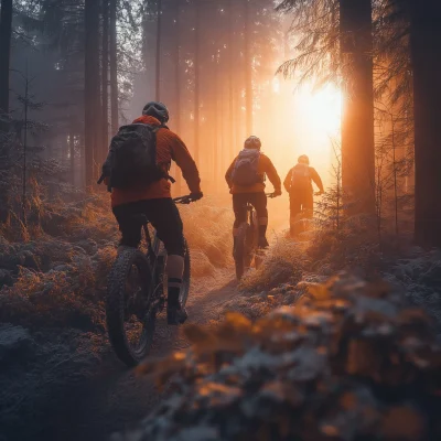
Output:
[[[228,205],[204,200],[182,208],[193,258],[189,323],[213,325],[228,311],[258,319],[295,303],[308,283],[354,268],[390,281],[441,323],[439,251],[395,240],[379,252],[358,224],[344,235],[324,229],[286,240],[282,209],[267,259],[238,287]],[[0,441],[106,440],[148,416],[165,392],[128,370],[107,340],[103,300],[118,237],[107,200],[49,207],[41,216],[49,224],[35,238],[0,236]],[[182,327],[162,318],[151,357],[189,345]]]

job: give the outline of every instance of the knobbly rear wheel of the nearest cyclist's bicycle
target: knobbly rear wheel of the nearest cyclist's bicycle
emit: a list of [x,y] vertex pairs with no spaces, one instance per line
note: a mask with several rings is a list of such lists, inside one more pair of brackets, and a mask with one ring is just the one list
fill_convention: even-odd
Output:
[[106,322],[110,344],[127,366],[139,364],[149,353],[154,334],[155,311],[150,263],[138,249],[122,251],[109,276]]

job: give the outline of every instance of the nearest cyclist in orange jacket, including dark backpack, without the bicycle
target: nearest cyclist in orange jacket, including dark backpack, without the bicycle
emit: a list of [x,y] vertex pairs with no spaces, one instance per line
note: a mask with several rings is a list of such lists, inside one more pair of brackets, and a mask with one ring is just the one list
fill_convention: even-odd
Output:
[[103,175],[111,189],[111,207],[122,234],[118,251],[138,247],[143,214],[158,232],[168,251],[168,322],[183,323],[186,311],[179,295],[184,270],[183,225],[171,197],[169,170],[171,161],[182,169],[191,200],[203,197],[197,166],[181,138],[165,123],[169,110],[162,103],[148,103],[142,116],[120,128],[114,137]]

